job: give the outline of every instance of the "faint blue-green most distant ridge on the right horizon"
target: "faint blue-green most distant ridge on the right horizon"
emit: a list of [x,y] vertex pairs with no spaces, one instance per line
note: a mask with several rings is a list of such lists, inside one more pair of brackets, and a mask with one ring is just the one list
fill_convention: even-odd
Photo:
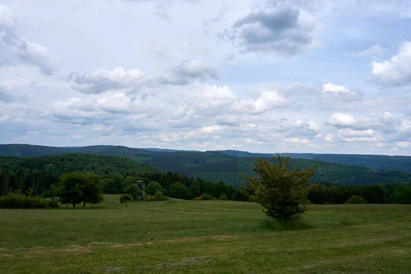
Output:
[[[276,153],[251,153],[247,151],[223,150],[219,151],[231,156],[271,158]],[[317,154],[317,153],[279,153],[279,155],[290,158],[301,158],[308,160],[319,160],[332,162],[334,164],[353,164],[356,166],[366,166],[370,169],[390,169],[406,171],[411,173],[410,156],[388,156],[388,155],[361,155],[361,154]]]

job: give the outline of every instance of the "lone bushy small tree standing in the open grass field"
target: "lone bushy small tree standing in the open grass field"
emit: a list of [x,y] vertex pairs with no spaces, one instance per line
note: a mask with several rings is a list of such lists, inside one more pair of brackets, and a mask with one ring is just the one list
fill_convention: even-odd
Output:
[[253,171],[259,177],[245,175],[245,181],[255,192],[267,216],[279,221],[291,221],[306,211],[308,182],[314,175],[314,168],[299,171],[297,166],[290,170],[288,158],[277,155],[277,164],[271,160],[258,159]]

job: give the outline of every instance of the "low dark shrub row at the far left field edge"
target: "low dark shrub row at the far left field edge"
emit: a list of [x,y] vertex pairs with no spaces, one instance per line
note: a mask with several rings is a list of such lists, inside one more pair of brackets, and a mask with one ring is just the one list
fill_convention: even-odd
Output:
[[58,208],[58,204],[40,197],[3,195],[0,197],[0,208]]

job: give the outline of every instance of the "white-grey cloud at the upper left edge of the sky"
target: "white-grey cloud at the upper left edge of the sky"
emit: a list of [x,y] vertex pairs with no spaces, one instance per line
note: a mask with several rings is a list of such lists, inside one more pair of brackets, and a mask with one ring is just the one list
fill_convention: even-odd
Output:
[[57,58],[34,42],[24,40],[17,32],[12,12],[0,4],[0,66],[27,64],[36,66],[41,73],[52,75]]

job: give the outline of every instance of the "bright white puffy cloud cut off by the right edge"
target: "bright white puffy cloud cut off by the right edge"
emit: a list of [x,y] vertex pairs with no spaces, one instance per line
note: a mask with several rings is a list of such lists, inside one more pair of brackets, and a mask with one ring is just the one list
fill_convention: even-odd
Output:
[[404,42],[390,60],[371,62],[371,80],[383,87],[410,86],[411,42]]

